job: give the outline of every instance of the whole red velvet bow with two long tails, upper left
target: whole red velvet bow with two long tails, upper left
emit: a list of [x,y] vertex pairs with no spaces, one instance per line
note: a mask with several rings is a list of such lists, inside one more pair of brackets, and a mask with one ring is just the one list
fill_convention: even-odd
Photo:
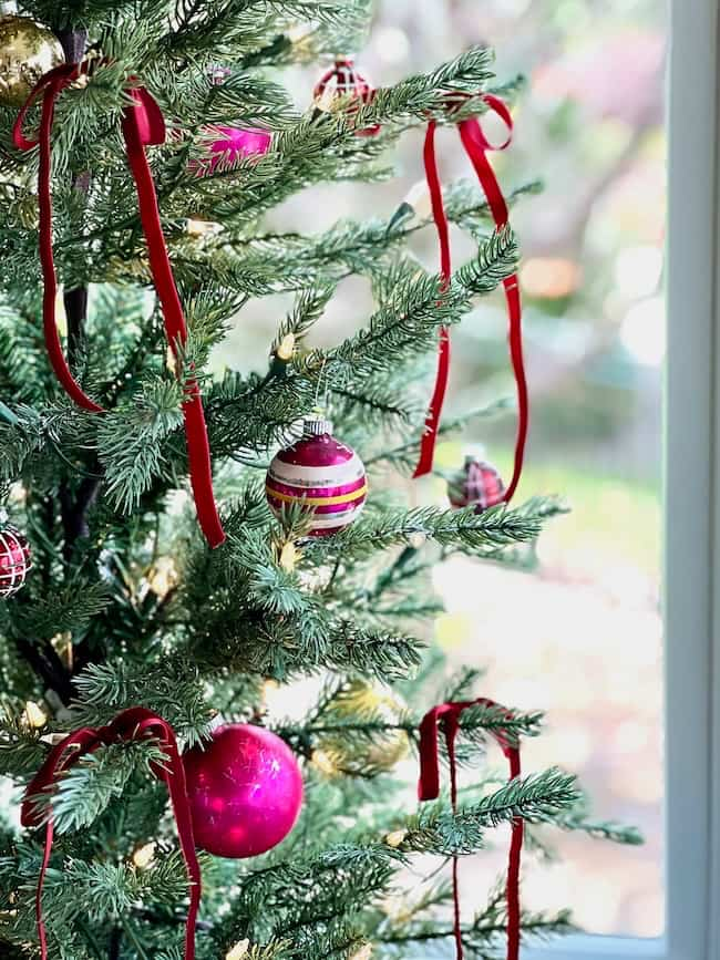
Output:
[[[85,75],[92,61],[64,63],[45,73],[35,84],[16,121],[12,136],[22,151],[40,147],[38,173],[38,198],[40,206],[40,262],[43,276],[42,323],[48,354],[55,376],[69,396],[83,410],[102,413],[103,409],[83,391],[73,378],[65,359],[55,318],[58,277],[52,249],[52,192],[51,192],[51,135],[55,101],[62,90]],[[150,268],[163,310],[165,333],[175,357],[187,342],[187,327],[183,307],[175,286],[175,278],[165,246],[160,220],[157,196],[152,173],[145,155],[145,146],[161,144],[165,140],[165,123],[157,103],[144,86],[131,86],[132,104],[123,112],[122,130],[127,151],[127,161],[135,182],[141,221],[147,241]],[[29,140],[22,126],[30,106],[42,94],[42,113],[37,140]],[[207,438],[207,426],[199,386],[195,378],[185,385],[183,402],[185,436],[189,462],[191,485],[195,497],[197,518],[210,547],[225,540],[225,531],[213,493],[213,468]]]

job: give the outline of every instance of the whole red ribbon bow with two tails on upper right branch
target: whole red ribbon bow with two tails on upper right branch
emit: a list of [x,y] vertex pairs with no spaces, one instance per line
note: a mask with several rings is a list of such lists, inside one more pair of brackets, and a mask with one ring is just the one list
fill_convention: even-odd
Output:
[[[494,149],[505,149],[510,145],[513,130],[513,118],[505,103],[497,96],[486,94],[483,97],[493,113],[497,114],[506,124],[508,130],[507,140],[493,146],[479,123],[474,117],[462,121],[457,127],[460,131],[460,140],[467,154],[470,162],[473,165],[481,187],[487,197],[487,204],[495,221],[495,227],[500,230],[506,226],[508,220],[507,204],[503,196],[503,192],[495,176],[495,172],[488,159],[488,153]],[[423,151],[423,159],[425,165],[425,177],[428,188],[430,190],[430,200],[432,205],[433,219],[438,229],[438,238],[440,241],[440,275],[442,278],[441,289],[445,290],[451,277],[451,256],[450,256],[450,234],[448,227],[448,217],[442,198],[442,185],[438,174],[438,161],[435,157],[435,127],[434,121],[428,124],[425,134],[425,146]],[[529,417],[529,402],[527,396],[527,382],[525,379],[525,367],[523,362],[523,328],[522,328],[522,303],[520,297],[520,287],[517,275],[513,273],[503,280],[505,289],[505,302],[507,306],[508,319],[508,340],[510,353],[515,376],[517,391],[517,434],[515,438],[515,462],[513,467],[513,476],[505,491],[504,500],[507,503],[512,499],[517,484],[520,483],[523,471],[523,460],[525,455],[525,443],[527,440],[527,426]],[[440,427],[440,417],[442,406],[448,389],[448,375],[450,372],[450,336],[446,327],[440,330],[440,343],[438,348],[438,372],[435,374],[435,386],[433,395],[428,409],[425,419],[425,430],[420,443],[420,458],[413,476],[424,476],[430,473],[433,465],[435,453],[435,441],[438,438],[438,430]]]

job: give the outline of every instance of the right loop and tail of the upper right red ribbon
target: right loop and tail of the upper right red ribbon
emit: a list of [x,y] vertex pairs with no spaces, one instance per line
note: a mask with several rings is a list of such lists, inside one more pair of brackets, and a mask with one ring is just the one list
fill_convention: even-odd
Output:
[[[483,99],[488,107],[497,114],[507,126],[507,138],[498,146],[492,146],[483,133],[480,122],[474,117],[472,120],[463,121],[460,124],[460,137],[465,148],[465,153],[477,174],[480,185],[487,198],[487,205],[490,206],[495,227],[497,230],[501,230],[507,225],[510,214],[507,210],[507,204],[505,203],[505,197],[503,196],[503,192],[487,154],[492,149],[505,149],[505,147],[510,145],[513,118],[506,104],[503,103],[502,100],[492,94],[487,94]],[[529,426],[529,396],[527,391],[527,379],[525,375],[525,361],[523,358],[523,307],[517,273],[512,273],[510,277],[506,277],[503,280],[503,288],[505,291],[505,303],[507,308],[510,355],[517,394],[517,430],[515,434],[513,475],[503,496],[504,502],[510,503],[517,489],[523,473],[525,446],[527,443],[527,431]]]

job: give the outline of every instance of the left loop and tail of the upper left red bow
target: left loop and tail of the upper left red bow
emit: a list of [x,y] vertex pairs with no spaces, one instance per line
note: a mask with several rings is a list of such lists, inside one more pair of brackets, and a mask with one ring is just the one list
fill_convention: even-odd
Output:
[[[65,393],[82,410],[92,413],[102,412],[94,400],[84,392],[82,386],[72,375],[72,371],[65,359],[65,354],[58,332],[55,316],[58,300],[58,276],[52,249],[52,123],[55,111],[55,100],[59,93],[76,80],[81,73],[88,72],[88,63],[63,63],[45,73],[30,92],[30,96],[20,110],[12,128],[12,140],[18,149],[29,151],[34,146],[40,147],[38,167],[38,206],[39,206],[39,240],[40,240],[40,266],[43,279],[42,295],[42,329],[45,339],[48,357],[55,376]],[[28,111],[42,94],[42,111],[40,131],[37,140],[30,140],[23,134],[23,124]]]

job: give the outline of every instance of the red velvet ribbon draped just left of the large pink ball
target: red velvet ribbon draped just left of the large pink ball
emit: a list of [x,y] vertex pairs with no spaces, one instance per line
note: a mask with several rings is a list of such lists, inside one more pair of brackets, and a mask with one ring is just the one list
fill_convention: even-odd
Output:
[[[161,750],[167,756],[167,766],[153,764],[152,770],[155,776],[158,780],[164,780],[167,785],[173,815],[177,825],[179,845],[187,869],[189,907],[185,923],[185,960],[194,960],[195,927],[202,895],[200,868],[197,861],[197,854],[195,853],[193,822],[187,801],[183,760],[173,727],[162,716],[158,716],[151,710],[146,710],[144,706],[133,706],[119,713],[107,726],[84,726],[66,736],[52,749],[48,758],[28,785],[22,799],[21,823],[24,827],[41,826],[43,814],[37,804],[38,798],[42,794],[47,796],[62,774],[83,756],[93,753],[100,746],[122,741],[142,740],[143,737],[156,739]],[[45,823],[45,845],[35,892],[35,918],[42,960],[48,960],[48,938],[42,917],[42,888],[44,886],[48,865],[50,864],[53,834],[51,813]]]

